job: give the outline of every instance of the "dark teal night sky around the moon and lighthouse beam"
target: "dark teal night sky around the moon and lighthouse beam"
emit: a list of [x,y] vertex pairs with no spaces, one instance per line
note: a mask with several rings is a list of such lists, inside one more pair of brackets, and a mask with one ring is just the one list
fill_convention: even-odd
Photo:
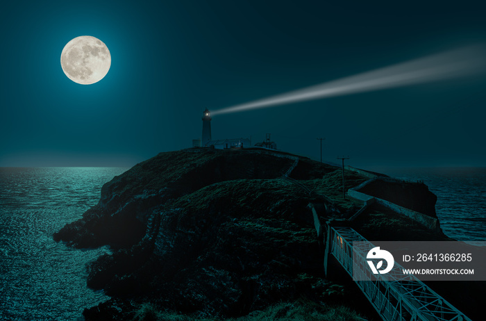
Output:
[[[484,1],[10,1],[0,12],[0,166],[135,165],[218,110],[486,42]],[[92,35],[107,76],[69,80]],[[486,74],[216,115],[212,138],[349,165],[486,166]]]

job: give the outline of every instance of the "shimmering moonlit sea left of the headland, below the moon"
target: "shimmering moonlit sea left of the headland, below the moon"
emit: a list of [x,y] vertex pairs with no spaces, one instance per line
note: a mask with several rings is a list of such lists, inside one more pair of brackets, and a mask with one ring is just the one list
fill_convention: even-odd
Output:
[[52,234],[97,204],[127,168],[0,167],[0,320],[76,320],[106,301],[85,265],[109,249],[72,249]]

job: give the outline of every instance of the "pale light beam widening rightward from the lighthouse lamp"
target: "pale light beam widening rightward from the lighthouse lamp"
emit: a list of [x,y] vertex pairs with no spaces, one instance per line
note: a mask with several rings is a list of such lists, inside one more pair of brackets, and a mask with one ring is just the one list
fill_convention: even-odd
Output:
[[258,99],[246,104],[215,110],[212,111],[212,115],[236,113],[244,110],[267,108],[300,101],[342,96],[344,94],[370,92],[405,85],[453,79],[485,70],[486,49],[483,45],[477,45],[446,51],[335,81],[321,83],[320,85]]

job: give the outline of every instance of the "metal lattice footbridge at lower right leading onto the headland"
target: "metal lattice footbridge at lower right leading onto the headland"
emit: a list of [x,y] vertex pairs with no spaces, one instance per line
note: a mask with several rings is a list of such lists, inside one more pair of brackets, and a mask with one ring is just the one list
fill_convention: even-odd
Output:
[[[372,274],[367,265],[367,253],[374,245],[350,227],[328,226],[330,254],[353,277],[358,287],[386,321],[471,321],[464,313],[449,304],[440,295],[412,275],[403,274],[401,265],[395,263],[387,274]],[[353,247],[359,241],[361,246]]]

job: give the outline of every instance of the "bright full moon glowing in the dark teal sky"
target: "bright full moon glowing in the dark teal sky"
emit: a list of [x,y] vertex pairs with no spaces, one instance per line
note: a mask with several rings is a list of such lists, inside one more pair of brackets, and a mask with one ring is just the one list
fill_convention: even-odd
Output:
[[90,85],[101,81],[108,74],[110,65],[108,47],[90,35],[76,37],[62,49],[62,71],[75,83]]

